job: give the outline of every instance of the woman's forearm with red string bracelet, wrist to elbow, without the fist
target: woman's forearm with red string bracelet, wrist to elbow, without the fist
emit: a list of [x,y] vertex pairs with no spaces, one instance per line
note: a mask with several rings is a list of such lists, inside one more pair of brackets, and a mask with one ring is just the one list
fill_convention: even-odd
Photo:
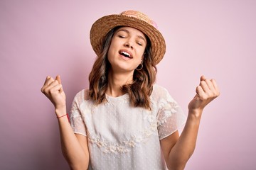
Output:
[[[55,112],[56,115],[66,114],[64,109],[62,111]],[[87,169],[89,164],[89,154],[85,153],[84,149],[82,149],[78,138],[75,136],[75,133],[68,122],[68,118],[59,118],[58,124],[63,156],[67,160],[71,169]]]

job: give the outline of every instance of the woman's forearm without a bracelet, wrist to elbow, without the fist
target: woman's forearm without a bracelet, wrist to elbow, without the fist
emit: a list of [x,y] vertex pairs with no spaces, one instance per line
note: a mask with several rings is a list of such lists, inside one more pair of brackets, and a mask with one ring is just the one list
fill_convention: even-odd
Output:
[[[193,112],[193,113],[192,113]],[[202,111],[188,111],[186,125],[169,154],[169,169],[184,169],[196,147]]]

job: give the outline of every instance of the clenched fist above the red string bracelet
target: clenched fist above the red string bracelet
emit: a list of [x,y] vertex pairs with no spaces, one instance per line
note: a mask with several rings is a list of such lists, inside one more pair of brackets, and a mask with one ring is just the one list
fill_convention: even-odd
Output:
[[42,93],[53,103],[55,112],[66,109],[65,93],[61,84],[60,76],[55,79],[46,77],[46,81],[41,89]]

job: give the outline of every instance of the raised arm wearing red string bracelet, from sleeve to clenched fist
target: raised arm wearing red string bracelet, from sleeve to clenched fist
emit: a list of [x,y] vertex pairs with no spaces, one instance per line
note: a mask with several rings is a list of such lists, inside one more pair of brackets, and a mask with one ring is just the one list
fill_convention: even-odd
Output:
[[60,76],[55,79],[47,77],[41,89],[55,107],[55,114],[58,118],[60,129],[60,140],[63,156],[67,160],[71,169],[87,169],[89,164],[89,152],[87,147],[87,137],[75,135],[68,122],[65,93],[60,81]]

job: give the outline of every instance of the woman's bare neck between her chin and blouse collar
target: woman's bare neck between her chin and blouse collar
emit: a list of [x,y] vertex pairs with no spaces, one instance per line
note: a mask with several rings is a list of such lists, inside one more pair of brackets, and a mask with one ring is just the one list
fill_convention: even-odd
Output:
[[112,71],[108,74],[108,84],[106,94],[112,97],[124,95],[122,86],[132,82],[133,72],[129,73],[114,73]]

